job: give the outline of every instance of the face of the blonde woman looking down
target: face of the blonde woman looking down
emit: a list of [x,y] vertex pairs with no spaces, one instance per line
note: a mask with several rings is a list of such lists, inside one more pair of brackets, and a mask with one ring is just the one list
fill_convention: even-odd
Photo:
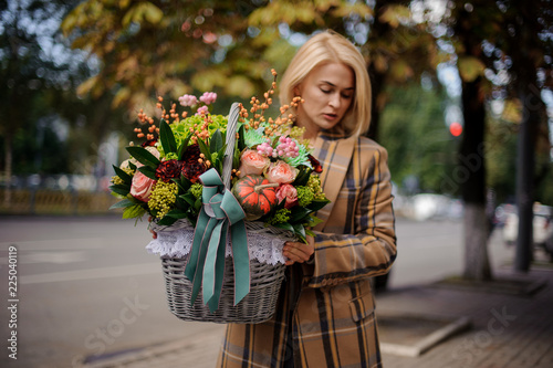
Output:
[[305,127],[305,138],[314,138],[344,117],[354,98],[355,75],[342,63],[319,65],[295,92],[304,99],[298,107],[298,125]]

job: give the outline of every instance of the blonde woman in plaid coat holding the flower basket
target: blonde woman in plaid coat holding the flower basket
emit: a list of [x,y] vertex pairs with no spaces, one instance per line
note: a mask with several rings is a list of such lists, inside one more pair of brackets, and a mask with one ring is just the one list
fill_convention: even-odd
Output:
[[302,96],[305,127],[332,200],[307,244],[288,242],[286,281],[273,319],[228,325],[219,367],[380,367],[369,277],[396,257],[387,153],[362,136],[371,83],[361,53],[327,31],[296,53],[280,101]]

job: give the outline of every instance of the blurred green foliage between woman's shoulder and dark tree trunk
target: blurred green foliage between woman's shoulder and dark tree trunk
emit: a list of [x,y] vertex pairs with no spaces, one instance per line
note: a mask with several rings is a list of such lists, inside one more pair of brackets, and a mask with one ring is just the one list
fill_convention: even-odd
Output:
[[393,99],[382,115],[379,143],[388,150],[392,179],[401,187],[415,176],[421,191],[442,192],[457,155],[457,141],[445,124],[445,94],[418,84],[388,87],[387,93]]

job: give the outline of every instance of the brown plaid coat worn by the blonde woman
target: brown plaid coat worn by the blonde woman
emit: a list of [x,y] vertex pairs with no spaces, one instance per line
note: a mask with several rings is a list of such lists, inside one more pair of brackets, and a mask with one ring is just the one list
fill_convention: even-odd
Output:
[[317,212],[314,262],[286,270],[271,320],[228,325],[218,367],[382,366],[369,277],[396,257],[387,153],[327,133],[314,156],[332,200]]

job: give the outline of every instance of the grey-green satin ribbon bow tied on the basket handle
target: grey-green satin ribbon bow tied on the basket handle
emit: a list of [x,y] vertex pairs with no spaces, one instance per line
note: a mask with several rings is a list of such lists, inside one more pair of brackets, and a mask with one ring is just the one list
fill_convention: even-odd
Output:
[[185,275],[192,283],[191,304],[204,288],[204,304],[212,313],[218,308],[221,295],[228,230],[234,266],[234,305],[250,292],[250,259],[242,207],[225,187],[216,169],[204,172],[200,181],[204,185],[204,206],[196,223]]

